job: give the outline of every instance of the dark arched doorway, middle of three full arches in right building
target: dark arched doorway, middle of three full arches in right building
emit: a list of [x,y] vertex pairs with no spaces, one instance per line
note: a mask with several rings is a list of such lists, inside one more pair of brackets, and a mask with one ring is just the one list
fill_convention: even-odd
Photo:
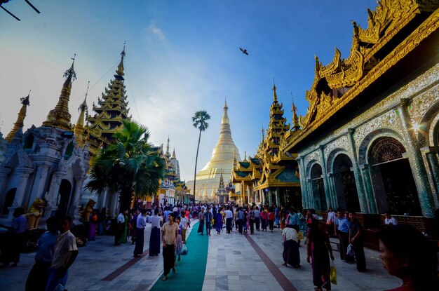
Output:
[[351,171],[352,161],[346,154],[339,154],[333,163],[334,186],[338,206],[345,210],[360,212],[355,176]]

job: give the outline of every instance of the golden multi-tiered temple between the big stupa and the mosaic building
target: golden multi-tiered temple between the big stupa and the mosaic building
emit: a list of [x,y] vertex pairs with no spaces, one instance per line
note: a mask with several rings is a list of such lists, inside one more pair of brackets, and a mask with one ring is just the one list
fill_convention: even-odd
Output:
[[[297,130],[298,118],[292,105],[293,130]],[[299,168],[295,154],[280,151],[281,142],[290,125],[283,116],[283,104],[278,102],[276,86],[273,83],[273,103],[270,107],[270,121],[266,133],[262,128],[262,142],[253,158],[236,163],[232,171],[232,182],[241,185],[241,192],[234,196],[238,203],[283,205],[302,208],[299,182]]]

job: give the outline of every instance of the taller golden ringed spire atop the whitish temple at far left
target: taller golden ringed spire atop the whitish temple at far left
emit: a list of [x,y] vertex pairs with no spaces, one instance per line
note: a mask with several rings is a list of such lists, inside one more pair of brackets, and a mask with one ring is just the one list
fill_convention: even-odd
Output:
[[58,104],[56,104],[55,109],[50,110],[46,121],[43,122],[43,126],[72,130],[70,127],[70,119],[72,116],[69,114],[69,99],[70,91],[72,90],[72,81],[76,79],[76,72],[74,71],[75,57],[76,53],[74,57],[72,57],[72,66],[64,73],[66,80],[62,85]]

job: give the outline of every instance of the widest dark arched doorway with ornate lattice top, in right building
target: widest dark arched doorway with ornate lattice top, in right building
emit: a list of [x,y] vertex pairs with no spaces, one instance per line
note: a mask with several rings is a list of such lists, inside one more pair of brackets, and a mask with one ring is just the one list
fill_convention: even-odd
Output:
[[412,169],[403,153],[403,144],[392,137],[380,137],[370,147],[368,160],[378,211],[421,215]]

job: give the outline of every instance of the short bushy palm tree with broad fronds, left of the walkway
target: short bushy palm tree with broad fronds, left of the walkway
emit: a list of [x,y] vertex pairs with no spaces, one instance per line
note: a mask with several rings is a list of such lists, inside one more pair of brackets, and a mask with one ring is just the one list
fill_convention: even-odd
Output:
[[151,196],[160,189],[165,161],[153,152],[149,131],[135,121],[122,121],[123,129],[113,135],[114,142],[104,147],[90,168],[90,191],[109,189],[119,194],[121,210],[130,208],[133,194]]

